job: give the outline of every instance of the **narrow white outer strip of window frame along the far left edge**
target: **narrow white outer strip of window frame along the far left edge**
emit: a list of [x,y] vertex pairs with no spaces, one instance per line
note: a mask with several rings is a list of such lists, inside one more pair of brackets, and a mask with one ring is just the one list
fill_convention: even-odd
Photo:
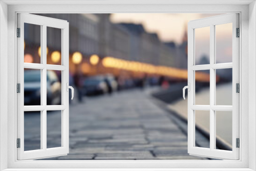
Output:
[[8,6],[0,2],[0,170],[7,168],[7,25]]

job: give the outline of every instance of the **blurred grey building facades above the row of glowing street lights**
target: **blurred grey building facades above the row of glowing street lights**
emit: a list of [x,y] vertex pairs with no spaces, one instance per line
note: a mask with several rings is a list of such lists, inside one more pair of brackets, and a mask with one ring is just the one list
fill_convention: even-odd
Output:
[[[162,42],[156,33],[146,32],[140,24],[114,24],[110,20],[111,14],[37,15],[68,20],[70,24],[70,57],[78,51],[82,54],[82,62],[90,64],[91,55],[96,54],[99,59],[110,56],[154,66],[187,69],[186,30],[182,43],[177,45],[175,42]],[[33,30],[33,28],[31,29]],[[34,34],[33,31],[28,33],[29,36],[25,37],[26,43],[30,42]],[[55,40],[61,39],[60,36],[61,33],[54,32],[54,29],[47,31],[49,58],[51,52],[61,51],[61,44],[56,43]],[[40,37],[37,39],[38,46],[40,46]],[[72,66],[73,63],[70,62],[70,65]]]

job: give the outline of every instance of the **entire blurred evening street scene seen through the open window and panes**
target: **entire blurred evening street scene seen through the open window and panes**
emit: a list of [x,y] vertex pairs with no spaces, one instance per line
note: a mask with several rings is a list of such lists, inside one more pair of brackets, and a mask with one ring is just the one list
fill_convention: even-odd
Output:
[[[174,25],[180,29],[169,35],[168,22],[149,30],[146,21],[151,17],[137,23],[140,14],[134,18],[128,14],[129,20],[119,18],[121,14],[36,15],[67,20],[70,27],[69,86],[75,88],[69,109],[70,153],[50,159],[206,159],[187,153],[187,101],[182,99],[188,75],[187,20]],[[160,16],[166,20],[179,17]],[[24,28],[24,62],[39,65],[41,28],[33,24]],[[217,63],[232,62],[232,25],[223,28],[227,31],[217,36],[223,44],[217,51]],[[195,65],[208,65],[209,29],[197,32]],[[66,100],[66,75],[57,70],[63,65],[61,35],[60,29],[47,27],[46,64],[56,69],[47,70],[44,77],[41,69],[24,68],[25,106],[43,105],[45,98],[47,105]],[[223,35],[229,36],[227,41]],[[215,70],[216,105],[232,105],[232,72],[232,68]],[[195,105],[210,104],[209,73],[195,72]],[[42,84],[44,79],[46,84]],[[61,146],[61,110],[47,111],[47,148]],[[45,141],[40,135],[44,120],[40,113],[24,112],[25,151],[40,149]],[[209,148],[209,111],[194,113],[194,145]],[[230,120],[232,112],[216,112],[217,149],[232,149]]]

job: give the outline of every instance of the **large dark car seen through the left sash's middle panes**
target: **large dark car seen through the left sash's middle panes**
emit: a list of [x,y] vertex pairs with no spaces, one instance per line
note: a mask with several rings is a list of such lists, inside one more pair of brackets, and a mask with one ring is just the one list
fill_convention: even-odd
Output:
[[[40,70],[24,71],[24,105],[41,104]],[[47,105],[61,103],[61,83],[55,72],[47,71]]]

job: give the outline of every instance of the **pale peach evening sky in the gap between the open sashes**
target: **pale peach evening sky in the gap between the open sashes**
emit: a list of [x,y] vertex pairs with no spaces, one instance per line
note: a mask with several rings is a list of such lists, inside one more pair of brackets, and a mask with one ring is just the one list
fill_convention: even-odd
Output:
[[113,23],[142,24],[146,31],[156,32],[163,41],[180,43],[189,20],[219,14],[187,14],[187,13],[115,13],[111,15]]

